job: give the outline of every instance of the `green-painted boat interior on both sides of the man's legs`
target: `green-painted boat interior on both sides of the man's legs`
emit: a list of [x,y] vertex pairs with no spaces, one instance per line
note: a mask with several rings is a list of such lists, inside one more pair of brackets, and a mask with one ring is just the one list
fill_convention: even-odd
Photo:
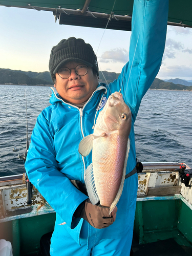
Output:
[[[54,222],[53,213],[0,223],[0,239],[12,243],[14,256],[34,255],[41,236],[54,229]],[[180,199],[138,201],[134,233],[140,244],[174,238],[192,247],[191,209]]]

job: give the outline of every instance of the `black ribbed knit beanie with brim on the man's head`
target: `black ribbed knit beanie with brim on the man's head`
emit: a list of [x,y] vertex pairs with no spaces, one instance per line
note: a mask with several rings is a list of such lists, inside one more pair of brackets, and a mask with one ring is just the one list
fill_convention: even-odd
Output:
[[49,60],[49,71],[52,80],[57,71],[67,62],[76,61],[92,67],[99,75],[97,56],[90,44],[86,44],[83,39],[70,37],[62,39],[58,45],[51,50]]

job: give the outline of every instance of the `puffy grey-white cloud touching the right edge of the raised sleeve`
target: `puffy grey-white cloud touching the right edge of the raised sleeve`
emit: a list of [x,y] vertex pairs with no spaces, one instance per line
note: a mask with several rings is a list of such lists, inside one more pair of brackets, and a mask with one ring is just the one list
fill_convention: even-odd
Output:
[[180,51],[182,49],[184,49],[184,46],[183,46],[183,44],[181,44],[181,42],[177,42],[176,40],[168,38],[166,40],[163,60],[166,59],[166,58],[174,59],[176,52]]

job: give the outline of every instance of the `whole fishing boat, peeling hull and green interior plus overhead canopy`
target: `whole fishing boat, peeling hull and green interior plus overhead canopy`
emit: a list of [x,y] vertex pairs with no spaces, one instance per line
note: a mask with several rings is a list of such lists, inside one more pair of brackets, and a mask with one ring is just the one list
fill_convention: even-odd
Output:
[[[117,1],[114,6],[115,2],[0,0],[0,5],[51,11],[61,25],[106,28],[110,20],[108,29],[131,30],[133,0]],[[168,25],[192,28],[191,7],[190,0],[169,0]],[[191,168],[182,162],[142,164],[132,253],[192,255]],[[43,255],[43,241],[49,247],[54,223],[53,208],[26,174],[0,178],[0,239],[11,242],[14,256]]]

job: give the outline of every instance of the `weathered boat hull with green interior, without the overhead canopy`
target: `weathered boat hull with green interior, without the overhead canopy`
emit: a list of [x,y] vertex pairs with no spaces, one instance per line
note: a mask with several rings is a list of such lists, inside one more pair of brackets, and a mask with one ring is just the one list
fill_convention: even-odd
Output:
[[[168,241],[170,248],[173,244],[172,250],[179,246],[185,253],[180,255],[191,255],[187,252],[192,252],[192,169],[177,162],[142,164],[143,170],[138,174],[134,254],[160,255],[138,252],[140,246],[148,243],[156,247],[155,243]],[[41,238],[54,230],[53,208],[34,186],[31,190],[31,204],[27,204],[25,174],[0,178],[0,234],[11,242],[14,256],[38,255]]]

